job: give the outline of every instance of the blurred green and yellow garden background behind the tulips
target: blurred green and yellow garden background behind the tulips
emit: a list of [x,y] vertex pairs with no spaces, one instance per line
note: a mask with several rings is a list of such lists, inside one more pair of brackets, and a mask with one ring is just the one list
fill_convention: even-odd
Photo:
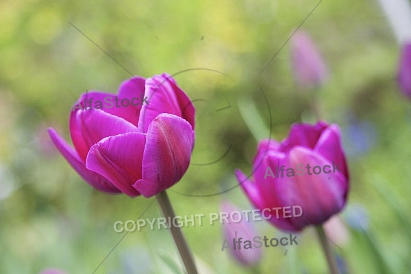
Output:
[[[39,273],[51,266],[92,273],[124,236],[114,232],[114,222],[136,221],[151,203],[93,190],[47,135],[47,127],[54,127],[70,140],[68,118],[79,95],[86,90],[114,93],[131,77],[129,72],[151,77],[202,68],[175,76],[192,100],[207,101],[195,103],[202,116],[192,162],[212,162],[231,147],[215,164],[191,165],[171,188],[175,212],[207,216],[219,212],[222,199],[251,208],[234,187],[234,169],[251,171],[257,145],[241,114],[262,119],[264,127],[256,129],[256,136],[277,140],[286,137],[292,123],[314,121],[314,95],[295,85],[289,45],[264,66],[317,3],[2,1],[0,273]],[[374,129],[369,150],[351,148],[348,156],[348,205],[366,208],[369,229],[366,234],[351,229],[349,239],[338,245],[341,250],[333,248],[349,273],[408,273],[411,106],[395,79],[400,47],[377,1],[322,1],[301,29],[310,33],[329,66],[330,77],[315,97],[322,118],[340,125],[347,148],[356,142],[347,133],[353,117]],[[210,197],[177,193],[211,195],[232,187]],[[159,216],[153,203],[142,219]],[[281,234],[268,223],[256,227],[261,236]],[[200,273],[252,273],[221,251],[221,225],[184,227],[183,232]],[[262,273],[327,273],[312,228],[299,234],[298,247],[289,247],[287,256],[283,247],[262,251]],[[127,234],[96,273],[172,273],[164,256],[179,262],[169,232],[145,227]]]

